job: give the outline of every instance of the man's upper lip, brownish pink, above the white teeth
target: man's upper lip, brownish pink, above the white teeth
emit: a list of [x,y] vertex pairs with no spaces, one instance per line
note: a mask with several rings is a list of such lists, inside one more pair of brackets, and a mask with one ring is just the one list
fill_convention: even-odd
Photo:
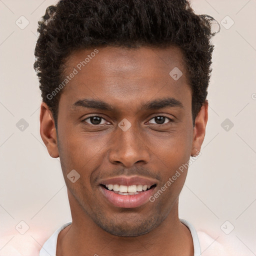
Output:
[[108,185],[108,184],[117,184],[117,185],[154,185],[156,181],[154,179],[141,177],[141,176],[117,176],[111,178],[101,179],[99,181],[100,184]]

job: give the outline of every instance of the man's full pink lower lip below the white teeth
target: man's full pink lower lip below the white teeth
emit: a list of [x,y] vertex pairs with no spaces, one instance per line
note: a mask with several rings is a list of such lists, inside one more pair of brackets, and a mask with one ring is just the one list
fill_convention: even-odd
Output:
[[100,191],[108,199],[108,201],[116,207],[120,208],[136,208],[149,201],[149,197],[153,194],[155,187],[149,190],[139,192],[132,195],[121,195],[99,186]]

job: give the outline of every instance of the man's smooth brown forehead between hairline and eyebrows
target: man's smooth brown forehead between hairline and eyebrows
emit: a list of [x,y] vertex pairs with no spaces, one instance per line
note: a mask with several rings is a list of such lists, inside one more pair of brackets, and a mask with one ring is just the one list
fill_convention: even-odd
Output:
[[[131,107],[154,96],[180,100],[190,95],[182,52],[174,46],[77,50],[65,66],[65,75],[77,71],[60,97],[70,104],[80,98],[94,98]],[[181,76],[174,79],[175,74]]]

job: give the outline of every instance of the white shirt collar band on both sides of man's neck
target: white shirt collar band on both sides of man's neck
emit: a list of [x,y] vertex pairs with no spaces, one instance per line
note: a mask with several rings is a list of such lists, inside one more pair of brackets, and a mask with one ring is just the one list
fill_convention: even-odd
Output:
[[[200,244],[198,240],[197,233],[192,226],[191,223],[186,221],[185,219],[179,219],[181,223],[186,225],[192,235],[193,246],[194,246],[194,256],[200,256]],[[56,247],[57,247],[57,238],[59,232],[64,229],[66,226],[70,225],[72,222],[65,223],[61,227],[59,227],[50,237],[49,239],[42,245],[42,248],[39,251],[39,256],[56,256]]]

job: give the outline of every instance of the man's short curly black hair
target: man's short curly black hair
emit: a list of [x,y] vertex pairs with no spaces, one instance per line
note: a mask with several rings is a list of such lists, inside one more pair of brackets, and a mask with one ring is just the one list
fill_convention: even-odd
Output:
[[47,95],[63,80],[65,61],[74,50],[172,45],[184,56],[194,124],[207,96],[212,21],[211,16],[196,15],[188,0],[60,0],[48,6],[38,21],[34,69],[55,125],[61,93]]

